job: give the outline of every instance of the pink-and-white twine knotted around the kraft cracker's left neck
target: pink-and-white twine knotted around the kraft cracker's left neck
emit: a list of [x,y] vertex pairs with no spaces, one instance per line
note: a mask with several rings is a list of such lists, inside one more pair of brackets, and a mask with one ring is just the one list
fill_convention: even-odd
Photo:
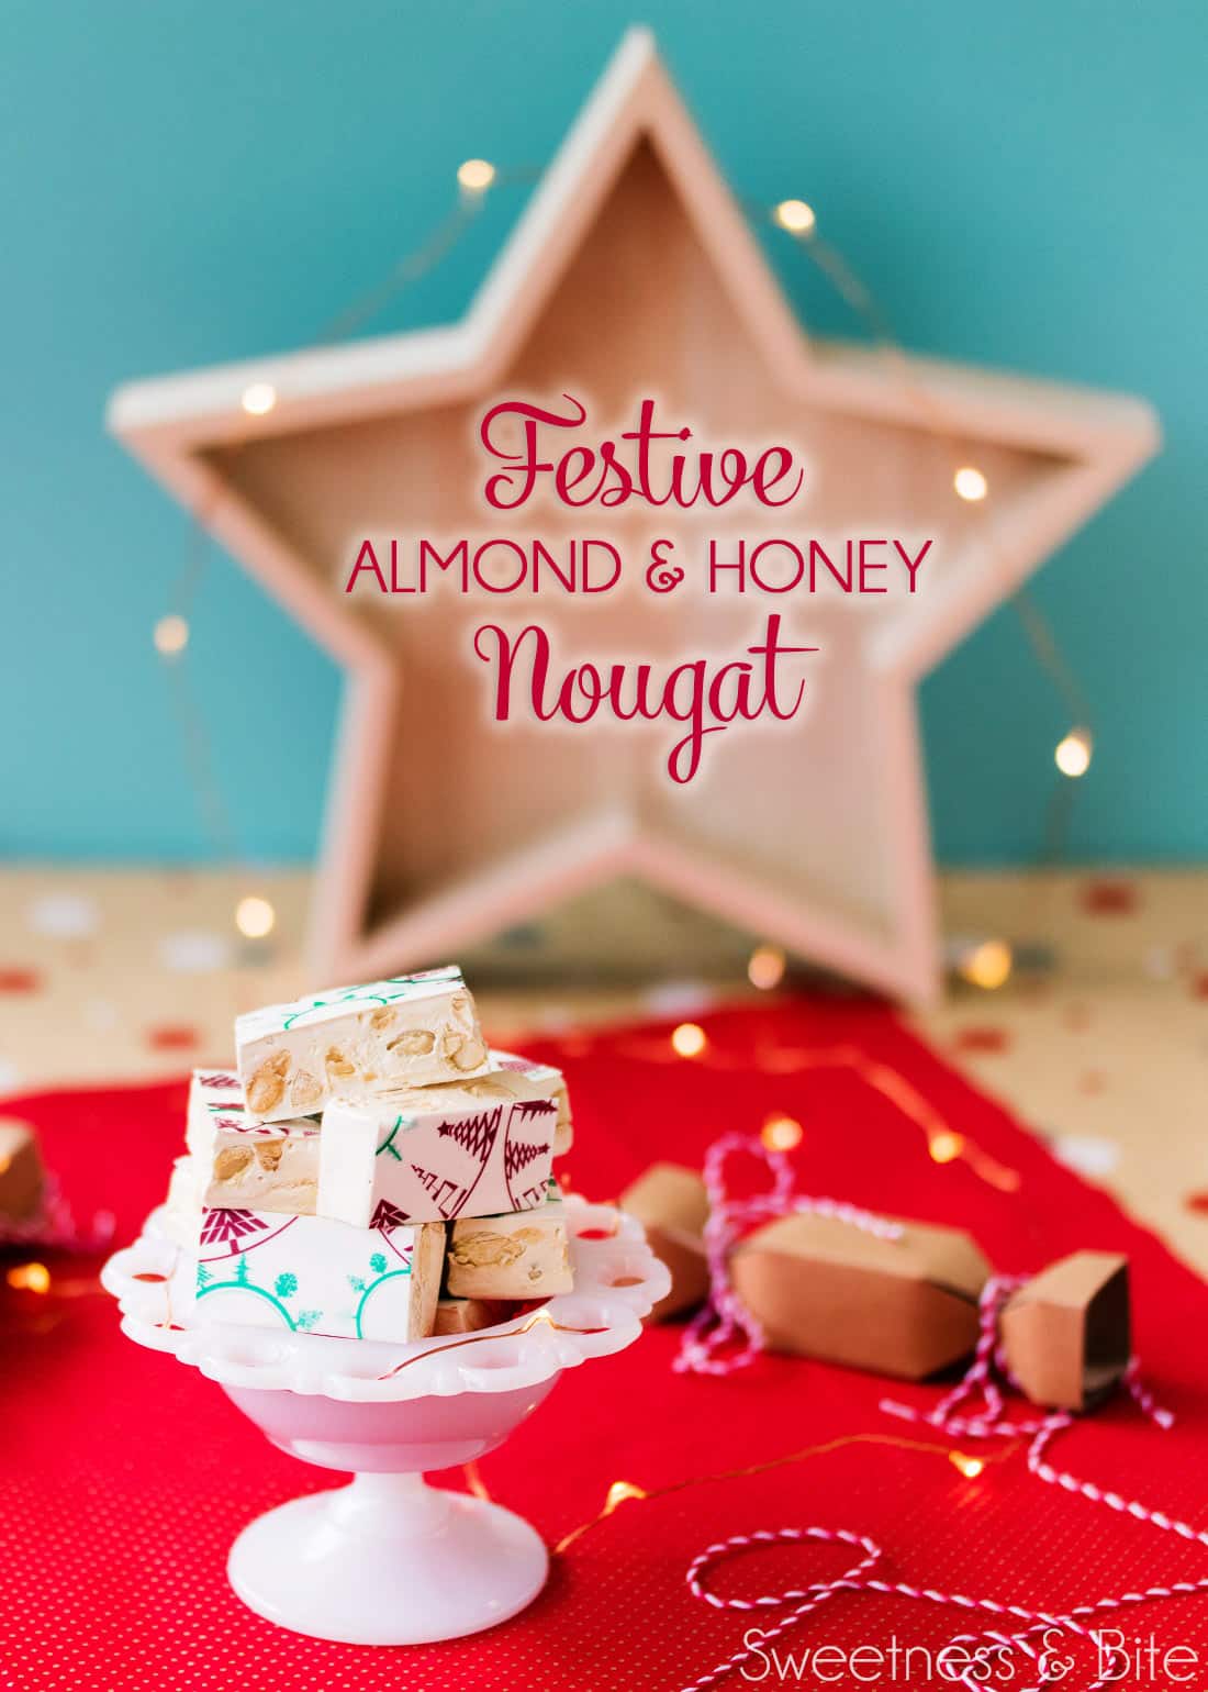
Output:
[[[726,1186],[726,1162],[734,1154],[746,1154],[761,1162],[771,1178],[765,1193],[751,1198],[731,1198]],[[744,1233],[761,1222],[777,1217],[809,1211],[815,1217],[836,1217],[875,1233],[897,1240],[902,1227],[887,1222],[856,1205],[834,1198],[804,1198],[793,1193],[792,1164],[783,1152],[768,1151],[760,1139],[746,1134],[722,1134],[706,1152],[704,1181],[709,1195],[709,1220],[706,1223],[706,1261],[709,1264],[709,1298],[684,1332],[680,1354],[673,1367],[692,1374],[733,1374],[744,1369],[765,1350],[763,1327],[743,1305],[729,1279],[729,1252]]]

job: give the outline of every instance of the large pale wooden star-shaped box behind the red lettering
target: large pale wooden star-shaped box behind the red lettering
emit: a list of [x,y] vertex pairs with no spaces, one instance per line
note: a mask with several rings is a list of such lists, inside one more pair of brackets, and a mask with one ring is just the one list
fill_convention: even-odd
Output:
[[[262,416],[244,409],[254,384],[276,391]],[[360,536],[480,535],[497,514],[477,420],[502,394],[563,393],[589,404],[592,440],[631,426],[645,394],[700,442],[790,438],[810,481],[788,533],[837,550],[934,536],[925,589],[859,607],[541,596],[567,662],[733,653],[770,607],[785,638],[824,648],[807,716],[714,736],[685,787],[631,726],[491,722],[469,648],[497,606],[342,592]],[[1157,442],[1130,398],[810,340],[645,30],[621,42],[460,323],[130,384],[110,426],[347,672],[316,978],[455,954],[631,875],[907,997],[939,976],[915,684]],[[954,496],[961,462],[985,501]],[[584,533],[565,513],[526,519],[550,547]],[[640,547],[658,531],[616,533]],[[785,513],[741,525],[750,543],[785,531]],[[690,550],[726,526],[677,513],[673,533]]]

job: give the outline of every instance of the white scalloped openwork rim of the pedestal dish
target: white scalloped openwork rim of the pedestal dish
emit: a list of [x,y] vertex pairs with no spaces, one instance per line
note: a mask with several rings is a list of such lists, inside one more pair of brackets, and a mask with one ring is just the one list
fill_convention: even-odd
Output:
[[640,1222],[575,1195],[565,1203],[574,1291],[469,1335],[389,1345],[233,1323],[167,1325],[164,1284],[188,1254],[161,1232],[162,1210],[147,1217],[132,1245],[108,1259],[102,1286],[117,1298],[129,1338],[169,1352],[220,1386],[376,1404],[513,1393],[633,1345],[641,1318],[670,1289],[670,1274]]

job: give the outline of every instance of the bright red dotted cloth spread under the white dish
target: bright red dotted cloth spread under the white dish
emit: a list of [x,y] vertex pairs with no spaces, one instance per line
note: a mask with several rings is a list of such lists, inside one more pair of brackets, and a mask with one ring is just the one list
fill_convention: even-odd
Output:
[[[1137,1345],[1179,1425],[1161,1433],[1117,1403],[1066,1435],[1056,1460],[1172,1516],[1208,1521],[1208,1299],[1159,1240],[1059,1167],[880,1007],[785,1000],[702,1024],[721,1068],[651,1061],[667,1051],[667,1029],[528,1042],[570,1078],[575,1188],[614,1195],[655,1157],[699,1162],[719,1132],[758,1130],[770,1112],[787,1112],[805,1130],[795,1154],[802,1191],[964,1225],[1005,1271],[1037,1269],[1076,1247],[1127,1250]],[[961,1161],[932,1162],[919,1129],[848,1071],[768,1073],[785,1047],[836,1041],[909,1078],[953,1129],[1020,1171],[1020,1191],[995,1191]],[[179,1151],[184,1086],[52,1093],[8,1108],[42,1130],[76,1213],[112,1206],[124,1240],[162,1195]],[[1161,1125],[1154,1139],[1161,1156]],[[68,1293],[86,1272],[68,1259],[52,1267],[56,1288]],[[1203,1546],[1044,1487],[1022,1453],[968,1480],[941,1455],[856,1445],[623,1504],[555,1557],[545,1594],[494,1633],[399,1651],[325,1645],[244,1611],[227,1587],[225,1555],[252,1516],[340,1477],[277,1453],[196,1371],[124,1340],[115,1308],[86,1281],[74,1291],[39,1301],[0,1288],[0,1685],[19,1692],[675,1689],[738,1650],[761,1619],[716,1612],[684,1582],[706,1543],[755,1528],[851,1528],[887,1548],[890,1580],[1051,1611],[1208,1574]],[[599,1513],[618,1479],[645,1489],[699,1482],[858,1431],[927,1438],[878,1411],[887,1382],[871,1376],[763,1359],[733,1379],[685,1377],[670,1367],[677,1345],[678,1328],[653,1330],[621,1357],[565,1376],[531,1421],[484,1459],[491,1494],[555,1543]],[[895,1391],[915,1403],[936,1398],[934,1389]],[[464,1479],[453,1472],[443,1484]],[[821,1545],[763,1550],[721,1570],[717,1585],[746,1596],[780,1590],[851,1560]],[[1128,1636],[1152,1629],[1162,1646],[1189,1645],[1208,1662],[1205,1607],[1194,1597],[1135,1609],[1120,1624]],[[897,1634],[937,1648],[961,1631],[953,1611],[853,1594],[826,1604],[785,1643],[887,1648]],[[753,1667],[761,1672],[760,1662]],[[1201,1667],[1193,1684],[1203,1677]],[[1032,1678],[1020,1663],[1015,1684]],[[925,1684],[925,1675],[915,1668],[912,1680]],[[726,1684],[746,1682],[734,1675]],[[802,1684],[822,1682],[807,1672]],[[1081,1672],[1066,1680],[1086,1684]],[[1144,1682],[1128,1675],[1125,1684]],[[1156,1684],[1167,1682],[1159,1675]]]

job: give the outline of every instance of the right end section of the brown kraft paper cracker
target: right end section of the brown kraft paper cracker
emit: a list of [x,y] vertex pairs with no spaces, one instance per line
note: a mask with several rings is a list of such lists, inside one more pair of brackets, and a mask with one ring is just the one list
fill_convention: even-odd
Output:
[[1128,1259],[1074,1252],[1013,1294],[998,1318],[1007,1367],[1034,1404],[1090,1409],[1132,1357]]

